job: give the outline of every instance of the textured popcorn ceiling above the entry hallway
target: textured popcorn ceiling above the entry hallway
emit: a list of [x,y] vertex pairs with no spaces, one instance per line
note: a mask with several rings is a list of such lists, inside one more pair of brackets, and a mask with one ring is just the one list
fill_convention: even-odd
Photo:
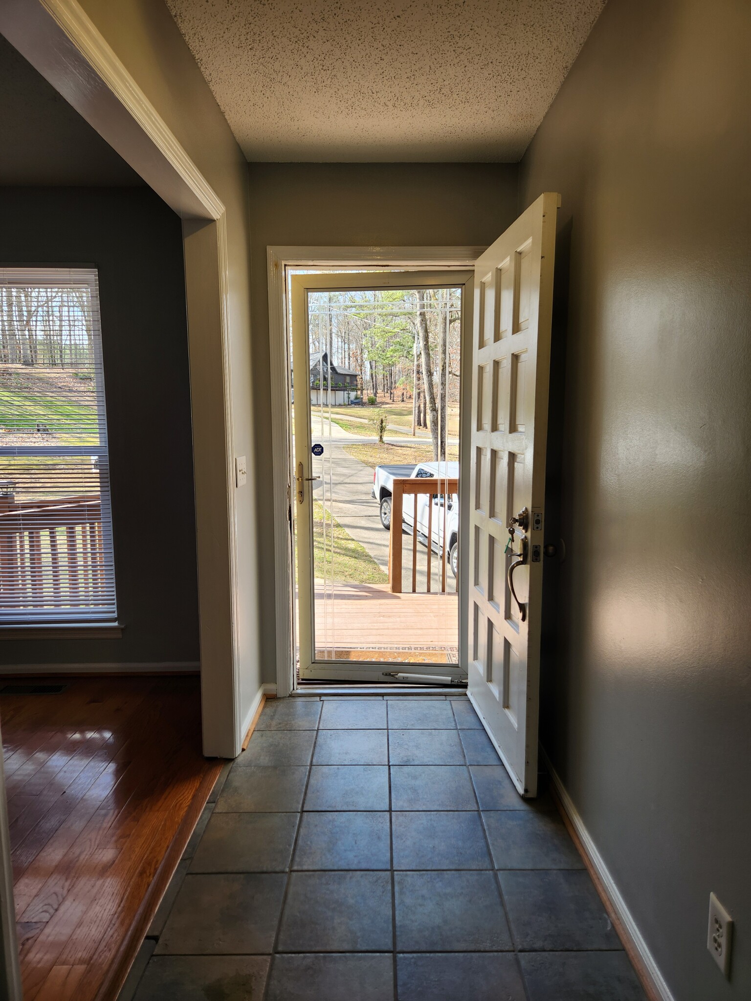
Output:
[[166,0],[248,160],[515,161],[605,0]]

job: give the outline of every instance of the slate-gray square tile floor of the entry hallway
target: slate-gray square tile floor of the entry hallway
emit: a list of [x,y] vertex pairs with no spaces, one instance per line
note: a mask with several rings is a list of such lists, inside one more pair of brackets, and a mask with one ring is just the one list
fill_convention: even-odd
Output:
[[120,1001],[645,1001],[469,700],[266,704]]

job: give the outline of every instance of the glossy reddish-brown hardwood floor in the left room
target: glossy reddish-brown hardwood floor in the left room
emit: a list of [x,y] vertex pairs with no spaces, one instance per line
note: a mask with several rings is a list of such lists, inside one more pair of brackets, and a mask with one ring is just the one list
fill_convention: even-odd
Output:
[[106,1001],[221,763],[197,678],[42,681],[65,690],[0,693],[24,998]]

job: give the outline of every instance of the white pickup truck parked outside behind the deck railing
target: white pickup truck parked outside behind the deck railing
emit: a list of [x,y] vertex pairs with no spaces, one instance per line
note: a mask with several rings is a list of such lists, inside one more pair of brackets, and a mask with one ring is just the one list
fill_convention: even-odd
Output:
[[[459,462],[418,462],[417,465],[377,465],[372,474],[372,496],[379,502],[381,524],[387,530],[392,527],[392,493],[395,479],[449,478],[459,479]],[[428,506],[433,504],[431,520],[431,544],[439,555],[444,550],[444,497],[430,493],[418,495],[418,539],[428,545]],[[415,503],[406,500],[402,512],[402,521],[411,531],[414,531]],[[446,513],[446,537],[449,543],[449,564],[454,576],[457,576],[458,542],[459,542],[459,497],[453,493],[449,498]]]

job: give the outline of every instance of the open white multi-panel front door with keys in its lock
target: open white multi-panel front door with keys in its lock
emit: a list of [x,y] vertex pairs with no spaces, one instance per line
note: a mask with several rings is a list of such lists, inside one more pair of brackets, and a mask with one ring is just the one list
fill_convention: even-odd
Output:
[[[478,258],[472,342],[469,693],[537,795],[540,624],[557,194]],[[510,535],[511,529],[511,535]]]

